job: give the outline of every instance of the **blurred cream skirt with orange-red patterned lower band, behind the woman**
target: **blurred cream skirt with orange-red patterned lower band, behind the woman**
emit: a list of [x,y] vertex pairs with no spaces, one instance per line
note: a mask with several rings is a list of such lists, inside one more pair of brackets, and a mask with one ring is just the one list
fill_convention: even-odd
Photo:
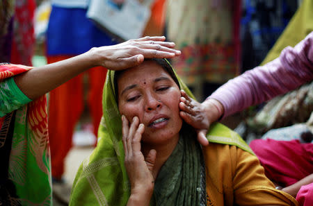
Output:
[[168,39],[182,51],[172,65],[198,98],[204,83],[221,84],[236,75],[240,16],[240,0],[168,1]]

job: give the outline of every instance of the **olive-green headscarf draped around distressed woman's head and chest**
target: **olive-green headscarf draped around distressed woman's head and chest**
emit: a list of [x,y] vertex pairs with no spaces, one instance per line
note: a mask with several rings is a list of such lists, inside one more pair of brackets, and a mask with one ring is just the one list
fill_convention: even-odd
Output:
[[[118,105],[115,101],[114,73],[114,71],[108,71],[108,74],[106,76],[102,102],[103,117],[99,126],[98,144],[93,153],[82,162],[79,171],[77,172],[77,176],[73,184],[70,205],[127,205],[127,201],[130,195],[130,187],[124,164],[125,153],[122,145],[122,121],[120,112],[118,110]],[[177,77],[175,72],[173,74]],[[184,85],[184,83],[182,83],[182,81],[178,77],[177,80],[179,82],[180,88],[184,89],[184,91],[189,96],[194,98],[190,90],[186,87],[186,85]],[[216,123],[214,126],[211,126],[210,130],[213,131],[209,132],[208,134],[210,141],[223,144],[233,144],[240,146],[246,151],[250,151],[250,148],[245,144],[245,142],[238,135],[236,135],[235,132],[232,132],[225,126]],[[181,137],[182,133],[183,132],[181,132]],[[180,204],[180,200],[175,200],[176,196],[173,198],[173,196],[171,195],[180,194],[182,193],[182,190],[186,192],[185,196],[186,198],[189,198],[189,203],[199,205],[200,194],[203,194],[203,192],[205,194],[205,191],[201,191],[202,187],[200,185],[200,171],[202,168],[201,165],[204,165],[201,162],[202,153],[200,150],[200,146],[198,142],[195,141],[195,138],[188,138],[191,134],[196,137],[195,133],[193,133],[192,131],[184,132],[184,134],[185,133],[188,135],[184,135],[184,138],[179,139],[179,144],[173,151],[172,155],[169,157],[166,164],[162,166],[162,169],[158,175],[155,184],[154,198],[152,198],[151,202],[152,205],[156,203],[159,204],[159,201],[156,200],[156,198],[159,198],[160,195],[166,196],[168,198],[169,202],[165,203]],[[192,146],[184,147],[184,145],[188,144],[192,144]],[[192,155],[184,155],[186,150],[191,150],[188,153]],[[187,157],[182,158],[182,155]],[[175,179],[175,175],[182,175],[177,173],[170,173],[170,175],[165,175],[165,178],[163,175],[167,173],[168,169],[170,169],[171,167],[173,168],[173,165],[170,164],[170,162],[179,162],[176,159],[179,158],[179,156],[181,157],[181,159],[183,159],[180,160],[180,162],[183,162],[182,164],[189,162],[188,164],[185,164],[185,167],[186,165],[193,166],[193,170],[198,171],[197,174],[194,174],[198,175],[195,178],[194,183],[192,182],[194,187],[190,189],[189,192],[184,189],[186,185],[191,184],[191,180],[188,177],[184,176],[182,182],[179,182],[179,185],[181,185],[179,186],[180,188],[174,187],[174,185],[170,186],[168,185],[168,183],[159,184],[163,185],[163,192],[162,188],[159,189],[157,183],[159,180],[167,182],[168,180],[166,177]],[[193,165],[194,161],[195,165]],[[179,196],[178,198],[181,198],[181,196]],[[184,203],[184,201],[182,201],[182,203]],[[186,202],[186,205],[188,205],[188,202]]]

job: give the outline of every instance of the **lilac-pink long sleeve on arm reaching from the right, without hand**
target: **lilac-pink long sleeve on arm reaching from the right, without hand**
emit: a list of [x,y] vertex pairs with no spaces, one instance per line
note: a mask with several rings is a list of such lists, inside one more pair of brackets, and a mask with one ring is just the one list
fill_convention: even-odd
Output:
[[313,32],[279,58],[229,80],[209,96],[224,106],[223,117],[239,112],[313,80]]

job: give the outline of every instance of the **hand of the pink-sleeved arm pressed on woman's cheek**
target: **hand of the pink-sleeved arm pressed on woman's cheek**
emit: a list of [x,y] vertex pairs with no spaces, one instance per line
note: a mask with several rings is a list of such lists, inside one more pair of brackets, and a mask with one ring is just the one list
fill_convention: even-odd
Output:
[[207,130],[209,129],[210,122],[208,117],[205,115],[206,112],[201,103],[190,98],[184,90],[181,90],[182,96],[179,102],[179,115],[195,128],[198,134],[198,141],[202,146],[209,145],[207,141]]

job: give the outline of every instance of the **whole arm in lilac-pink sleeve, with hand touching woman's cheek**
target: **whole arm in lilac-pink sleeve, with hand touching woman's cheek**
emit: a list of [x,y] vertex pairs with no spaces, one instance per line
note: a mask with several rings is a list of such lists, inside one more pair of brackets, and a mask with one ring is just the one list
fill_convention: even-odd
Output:
[[296,89],[313,80],[313,32],[294,48],[282,51],[279,58],[262,67],[255,67],[229,80],[203,103],[182,94],[181,117],[198,131],[203,146],[211,123]]

